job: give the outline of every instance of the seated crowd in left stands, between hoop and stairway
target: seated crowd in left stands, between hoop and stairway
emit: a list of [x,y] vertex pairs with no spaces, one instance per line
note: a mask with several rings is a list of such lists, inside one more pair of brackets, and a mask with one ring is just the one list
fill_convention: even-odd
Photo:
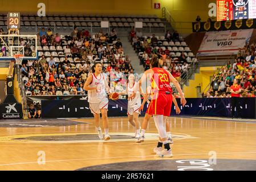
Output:
[[[76,95],[86,94],[83,89],[87,77],[92,74],[91,67],[95,63],[103,64],[103,74],[113,88],[123,88],[123,80],[129,73],[134,73],[131,60],[125,55],[115,29],[108,34],[100,31],[91,35],[87,30],[74,28],[71,35],[65,36],[69,42],[64,48],[65,59],[55,62],[53,56],[46,59],[42,55],[39,60],[23,60],[21,71],[26,93],[30,96]],[[44,28],[38,34],[40,46],[60,46],[62,39],[56,33]],[[70,61],[76,59],[75,62]]]

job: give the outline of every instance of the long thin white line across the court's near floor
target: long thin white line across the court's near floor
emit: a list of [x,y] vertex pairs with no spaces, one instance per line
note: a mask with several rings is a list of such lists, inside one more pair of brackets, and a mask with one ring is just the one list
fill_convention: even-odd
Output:
[[[218,152],[217,154],[256,154],[254,152]],[[192,154],[174,154],[174,156],[182,156],[182,155],[208,155],[208,153],[192,153]],[[66,161],[75,161],[75,160],[97,160],[97,159],[119,159],[119,158],[147,158],[154,157],[156,155],[137,155],[137,156],[119,156],[119,157],[110,157],[110,158],[84,158],[84,159],[63,159],[63,160],[46,160],[46,163],[52,162],[66,162]],[[161,158],[159,158],[161,159]],[[10,164],[0,164],[0,166],[14,166],[19,164],[36,164],[38,162],[23,162],[23,163],[10,163]]]

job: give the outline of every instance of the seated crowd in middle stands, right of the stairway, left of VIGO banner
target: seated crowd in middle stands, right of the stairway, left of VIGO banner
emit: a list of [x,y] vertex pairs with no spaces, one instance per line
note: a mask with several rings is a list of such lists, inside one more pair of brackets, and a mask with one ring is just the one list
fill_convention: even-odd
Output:
[[180,35],[177,31],[166,31],[164,40],[157,39],[155,34],[152,36],[143,36],[140,29],[132,31],[129,34],[130,42],[134,50],[141,53],[140,64],[144,66],[145,70],[149,69],[149,63],[153,56],[159,58],[160,67],[170,71],[177,80],[180,79],[182,73],[187,73],[189,69],[188,56],[182,51],[180,56],[174,61],[173,56],[170,54],[170,49],[163,49],[161,46],[162,41],[165,42],[179,42]]

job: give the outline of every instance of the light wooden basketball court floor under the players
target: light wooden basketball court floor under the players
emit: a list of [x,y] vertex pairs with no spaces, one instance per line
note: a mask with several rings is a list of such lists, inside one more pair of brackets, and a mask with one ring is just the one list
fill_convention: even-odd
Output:
[[[55,120],[58,122],[58,119]],[[91,169],[121,170],[127,169],[120,168],[122,163],[131,167],[127,162],[136,162],[139,166],[132,165],[128,169],[161,170],[166,169],[166,166],[161,168],[162,162],[208,160],[213,154],[217,164],[218,160],[229,160],[226,169],[234,166],[231,161],[256,161],[254,120],[234,122],[221,118],[169,118],[174,140],[173,158],[159,158],[153,153],[157,143],[153,119],[149,122],[145,142],[140,144],[132,138],[134,131],[127,118],[109,118],[112,139],[107,142],[97,139],[93,119],[69,121],[75,122],[75,125],[48,126],[49,121],[43,120],[45,125],[37,125],[34,121],[23,125],[22,121],[0,127],[0,170],[76,170],[94,166],[96,168]],[[140,118],[142,121],[143,118]],[[26,120],[26,123],[29,122]],[[152,165],[148,166],[145,162]],[[112,168],[101,168],[101,164],[111,164]],[[155,168],[153,164],[158,166]],[[168,167],[177,170],[171,164]],[[256,170],[255,165],[252,169]]]

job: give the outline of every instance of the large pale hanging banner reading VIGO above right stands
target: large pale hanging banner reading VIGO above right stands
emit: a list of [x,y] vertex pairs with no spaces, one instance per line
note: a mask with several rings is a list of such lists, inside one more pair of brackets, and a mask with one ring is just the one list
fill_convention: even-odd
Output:
[[236,55],[252,33],[253,29],[206,32],[197,56]]

